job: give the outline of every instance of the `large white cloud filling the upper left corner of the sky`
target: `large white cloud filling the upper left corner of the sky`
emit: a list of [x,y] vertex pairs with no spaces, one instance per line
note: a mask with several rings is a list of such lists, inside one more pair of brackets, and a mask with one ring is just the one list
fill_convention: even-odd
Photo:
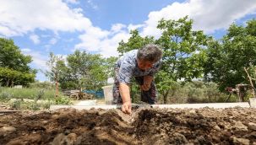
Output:
[[61,0],[8,0],[0,4],[0,34],[25,35],[35,29],[57,31],[84,31],[92,25],[81,8],[68,8]]

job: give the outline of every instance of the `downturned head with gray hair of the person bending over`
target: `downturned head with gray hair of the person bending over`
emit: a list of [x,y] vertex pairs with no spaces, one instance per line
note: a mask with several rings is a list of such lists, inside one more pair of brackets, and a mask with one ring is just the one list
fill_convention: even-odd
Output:
[[159,46],[150,44],[139,49],[137,53],[138,66],[142,70],[153,67],[155,62],[161,59],[162,51]]

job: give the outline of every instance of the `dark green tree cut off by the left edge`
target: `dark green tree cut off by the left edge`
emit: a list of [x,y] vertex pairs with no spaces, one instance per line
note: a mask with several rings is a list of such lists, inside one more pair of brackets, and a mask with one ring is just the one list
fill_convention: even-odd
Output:
[[29,85],[35,81],[35,69],[29,67],[31,56],[21,53],[14,40],[0,38],[0,83],[3,86]]

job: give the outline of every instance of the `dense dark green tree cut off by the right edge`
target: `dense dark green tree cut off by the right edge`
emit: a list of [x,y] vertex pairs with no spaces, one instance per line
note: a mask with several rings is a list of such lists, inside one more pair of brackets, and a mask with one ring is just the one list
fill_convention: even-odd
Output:
[[[211,41],[204,64],[204,77],[218,83],[220,90],[249,83],[244,67],[256,66],[256,20],[246,26],[231,24],[220,41]],[[252,75],[253,71],[249,71]]]

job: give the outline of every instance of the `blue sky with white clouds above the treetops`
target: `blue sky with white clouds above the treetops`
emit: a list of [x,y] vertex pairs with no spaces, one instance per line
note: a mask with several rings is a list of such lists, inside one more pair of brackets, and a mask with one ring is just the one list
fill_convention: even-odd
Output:
[[[0,0],[0,37],[11,38],[33,58],[30,66],[45,71],[52,51],[67,56],[74,50],[117,56],[120,40],[129,30],[140,35],[161,35],[157,21],[188,15],[193,30],[215,39],[231,23],[256,18],[255,0]],[[45,81],[43,73],[36,79]]]

